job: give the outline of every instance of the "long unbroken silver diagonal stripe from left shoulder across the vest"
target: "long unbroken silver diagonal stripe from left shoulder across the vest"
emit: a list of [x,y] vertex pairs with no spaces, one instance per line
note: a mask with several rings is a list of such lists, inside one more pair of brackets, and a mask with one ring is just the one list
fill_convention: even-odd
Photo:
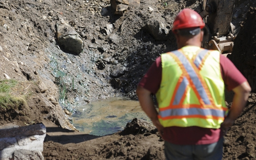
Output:
[[[192,68],[188,59],[181,52],[179,52],[177,50],[173,51],[172,53],[175,54],[178,57],[178,59],[180,60],[180,62],[183,64],[184,68],[188,72],[188,75],[190,76],[191,80],[193,81],[193,84],[196,86],[197,92],[199,93],[200,97],[204,101],[204,104],[211,104],[211,102],[208,99],[208,96],[204,90],[203,85],[201,84],[199,78],[196,75],[196,72]],[[182,95],[184,95],[184,92],[178,90],[176,94],[179,94],[179,96],[182,96]]]

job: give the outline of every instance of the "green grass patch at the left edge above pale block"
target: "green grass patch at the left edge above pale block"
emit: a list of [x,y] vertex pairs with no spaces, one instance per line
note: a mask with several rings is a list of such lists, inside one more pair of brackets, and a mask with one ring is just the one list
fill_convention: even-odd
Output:
[[17,86],[16,80],[0,80],[0,107],[8,109],[27,105],[24,96],[12,94],[12,91],[19,89]]

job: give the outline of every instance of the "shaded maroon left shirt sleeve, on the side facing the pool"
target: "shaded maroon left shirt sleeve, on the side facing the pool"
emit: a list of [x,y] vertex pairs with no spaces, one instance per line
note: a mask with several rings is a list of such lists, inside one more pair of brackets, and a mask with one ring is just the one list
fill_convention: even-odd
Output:
[[148,72],[140,80],[138,86],[147,89],[148,91],[156,94],[160,88],[162,80],[162,62],[161,56],[156,58],[156,61],[149,68]]

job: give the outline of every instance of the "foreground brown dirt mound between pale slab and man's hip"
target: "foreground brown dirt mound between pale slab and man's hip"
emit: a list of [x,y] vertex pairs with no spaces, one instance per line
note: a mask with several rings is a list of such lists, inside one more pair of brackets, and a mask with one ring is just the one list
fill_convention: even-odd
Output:
[[[72,143],[80,142],[79,137]],[[86,136],[86,135],[84,135]],[[49,138],[50,141],[47,141]],[[68,160],[79,158],[80,160],[120,159],[120,160],[162,160],[164,159],[164,141],[160,138],[156,128],[152,124],[133,119],[128,123],[124,131],[110,136],[97,137],[85,140],[79,144],[68,143],[61,145],[54,141],[57,137],[46,137],[43,155],[46,160]],[[62,143],[62,142],[60,142]],[[79,147],[78,147],[79,145]]]

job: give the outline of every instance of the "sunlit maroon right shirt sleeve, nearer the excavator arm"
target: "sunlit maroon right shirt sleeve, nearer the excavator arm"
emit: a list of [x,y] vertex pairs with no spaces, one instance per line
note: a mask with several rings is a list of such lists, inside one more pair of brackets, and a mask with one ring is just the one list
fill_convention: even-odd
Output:
[[224,84],[226,85],[228,91],[231,91],[232,89],[247,81],[242,73],[231,62],[231,60],[223,55],[220,55],[220,69],[222,71]]

